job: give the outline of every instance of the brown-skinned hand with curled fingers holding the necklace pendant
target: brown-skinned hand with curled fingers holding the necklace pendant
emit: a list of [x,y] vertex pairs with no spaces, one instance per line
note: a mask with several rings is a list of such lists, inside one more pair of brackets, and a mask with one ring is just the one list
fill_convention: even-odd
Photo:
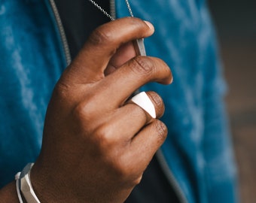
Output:
[[[31,172],[41,202],[123,202],[142,179],[167,135],[158,120],[164,105],[147,92],[157,113],[152,119],[127,98],[145,83],[172,82],[165,62],[135,54],[132,41],[153,32],[131,17],[100,26],[60,77]],[[0,198],[8,202],[14,192],[11,183]]]

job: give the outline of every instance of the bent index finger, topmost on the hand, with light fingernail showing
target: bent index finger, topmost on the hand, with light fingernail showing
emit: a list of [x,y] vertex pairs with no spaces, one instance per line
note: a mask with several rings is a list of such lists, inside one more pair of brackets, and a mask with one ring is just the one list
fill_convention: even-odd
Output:
[[[148,26],[149,25],[149,26]],[[133,17],[114,20],[99,26],[69,66],[73,81],[87,83],[104,77],[104,70],[118,47],[154,32],[150,23]]]

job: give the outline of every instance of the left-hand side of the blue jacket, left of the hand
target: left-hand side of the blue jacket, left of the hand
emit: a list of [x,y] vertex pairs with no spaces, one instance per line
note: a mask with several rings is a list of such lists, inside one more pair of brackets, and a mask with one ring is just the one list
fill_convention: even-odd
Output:
[[47,104],[66,65],[44,2],[1,1],[0,28],[0,186],[3,186],[38,156]]

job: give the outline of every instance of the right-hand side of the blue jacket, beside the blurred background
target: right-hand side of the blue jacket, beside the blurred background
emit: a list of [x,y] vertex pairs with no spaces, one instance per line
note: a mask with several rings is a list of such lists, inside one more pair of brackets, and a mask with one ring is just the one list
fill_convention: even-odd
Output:
[[[162,152],[188,202],[236,202],[236,170],[224,110],[226,91],[215,32],[203,0],[130,1],[135,17],[154,24],[148,56],[172,69],[172,85],[151,83],[163,98],[169,135]],[[129,16],[117,1],[117,17]]]

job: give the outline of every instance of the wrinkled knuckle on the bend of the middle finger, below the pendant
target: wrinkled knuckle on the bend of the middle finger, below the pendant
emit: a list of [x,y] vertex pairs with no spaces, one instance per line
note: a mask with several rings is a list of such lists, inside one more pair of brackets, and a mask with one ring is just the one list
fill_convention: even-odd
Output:
[[145,56],[136,56],[132,60],[131,68],[133,72],[144,77],[150,77],[156,70],[154,61]]

